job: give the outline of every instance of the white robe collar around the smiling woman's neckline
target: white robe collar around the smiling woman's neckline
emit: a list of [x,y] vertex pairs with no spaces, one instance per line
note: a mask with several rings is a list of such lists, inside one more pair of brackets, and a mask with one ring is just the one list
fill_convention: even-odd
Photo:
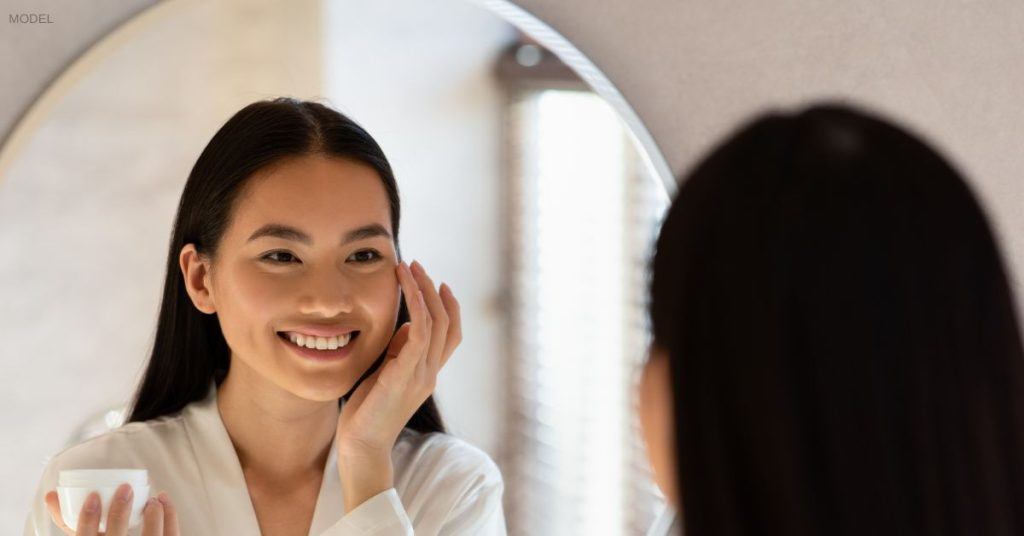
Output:
[[[249,488],[246,487],[242,464],[217,408],[216,382],[211,380],[206,397],[185,406],[182,415],[193,455],[203,479],[210,519],[215,525],[215,530],[211,532],[259,534],[259,523],[249,497]],[[338,523],[344,511],[338,455],[332,439],[309,536],[319,535]]]

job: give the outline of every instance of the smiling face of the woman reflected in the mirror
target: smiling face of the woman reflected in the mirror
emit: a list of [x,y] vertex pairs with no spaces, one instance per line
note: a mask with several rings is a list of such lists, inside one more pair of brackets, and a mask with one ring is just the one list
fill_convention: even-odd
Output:
[[[267,233],[267,225],[295,232]],[[189,248],[195,251],[190,244],[182,249],[183,270],[197,262],[186,260],[195,258]],[[250,178],[212,271],[203,276],[206,294],[190,293],[197,306],[217,314],[232,369],[247,367],[306,400],[333,401],[390,341],[398,314],[397,262],[377,172],[352,160],[294,157]],[[317,327],[354,330],[348,354],[309,359],[284,338],[315,334]]]

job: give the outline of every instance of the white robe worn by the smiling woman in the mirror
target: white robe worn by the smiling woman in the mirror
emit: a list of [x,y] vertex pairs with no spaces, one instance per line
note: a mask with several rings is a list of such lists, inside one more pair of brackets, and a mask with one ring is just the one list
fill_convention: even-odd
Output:
[[[216,395],[211,381],[207,397],[179,413],[125,424],[53,456],[33,497],[25,536],[63,534],[43,497],[56,489],[58,471],[73,468],[148,469],[151,495],[167,491],[182,535],[258,535]],[[505,534],[501,472],[483,451],[445,434],[406,429],[391,459],[394,488],[346,513],[332,443],[309,535]]]

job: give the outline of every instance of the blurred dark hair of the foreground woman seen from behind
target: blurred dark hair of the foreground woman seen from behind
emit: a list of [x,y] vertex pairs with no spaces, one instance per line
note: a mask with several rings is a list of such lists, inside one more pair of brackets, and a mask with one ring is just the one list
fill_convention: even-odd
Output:
[[652,262],[687,536],[1024,534],[1024,352],[989,224],[914,135],[767,114]]

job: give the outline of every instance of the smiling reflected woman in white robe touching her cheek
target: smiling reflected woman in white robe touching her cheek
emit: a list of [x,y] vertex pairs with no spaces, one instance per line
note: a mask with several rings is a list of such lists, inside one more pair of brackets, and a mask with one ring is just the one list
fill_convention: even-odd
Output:
[[102,467],[166,490],[146,535],[504,534],[500,472],[430,398],[458,302],[399,261],[398,221],[351,120],[290,98],[237,113],[185,183],[129,422],[53,457],[26,534],[95,534],[98,512],[65,527],[50,490]]

